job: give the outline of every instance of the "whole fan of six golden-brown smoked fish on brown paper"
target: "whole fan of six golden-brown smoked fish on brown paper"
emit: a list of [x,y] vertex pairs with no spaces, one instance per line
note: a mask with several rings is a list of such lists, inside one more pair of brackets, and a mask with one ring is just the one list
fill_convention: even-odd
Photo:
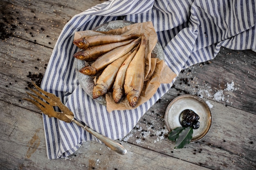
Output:
[[144,85],[145,35],[97,35],[74,40],[81,51],[75,58],[90,62],[79,70],[88,76],[101,72],[93,87],[92,96],[98,98],[112,92],[115,103],[127,97],[135,107]]

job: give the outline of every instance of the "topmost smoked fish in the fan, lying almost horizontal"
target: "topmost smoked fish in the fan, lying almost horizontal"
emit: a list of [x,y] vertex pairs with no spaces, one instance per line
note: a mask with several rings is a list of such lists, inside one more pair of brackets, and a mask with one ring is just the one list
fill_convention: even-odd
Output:
[[121,36],[121,35],[98,35],[98,36],[87,36],[84,38],[79,38],[74,40],[73,43],[80,49],[87,49],[88,47],[96,46],[96,45],[103,45],[109,44],[114,42],[121,42],[125,40],[131,40],[138,38],[140,35],[128,35],[128,36]]

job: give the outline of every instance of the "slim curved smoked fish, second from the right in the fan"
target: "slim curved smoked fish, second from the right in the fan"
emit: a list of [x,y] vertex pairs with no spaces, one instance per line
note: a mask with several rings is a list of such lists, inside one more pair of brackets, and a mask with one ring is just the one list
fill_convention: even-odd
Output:
[[124,80],[125,80],[126,70],[132,58],[137,53],[138,49],[139,49],[139,45],[136,47],[136,49],[133,49],[132,53],[126,58],[126,60],[124,61],[124,63],[121,65],[120,69],[117,72],[117,76],[115,79],[115,83],[113,85],[113,92],[112,92],[112,96],[114,98],[115,103],[119,103],[121,101],[121,98],[124,96]]

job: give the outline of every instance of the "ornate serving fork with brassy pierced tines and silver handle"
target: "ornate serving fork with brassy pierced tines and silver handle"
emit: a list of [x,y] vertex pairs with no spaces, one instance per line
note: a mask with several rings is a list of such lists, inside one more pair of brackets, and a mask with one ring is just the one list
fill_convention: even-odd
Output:
[[[84,123],[77,121],[74,118],[74,114],[69,110],[68,107],[63,105],[63,103],[61,102],[59,97],[57,97],[56,95],[54,95],[52,93],[45,92],[43,89],[38,87],[34,82],[32,82],[32,83],[36,87],[38,92],[36,92],[36,90],[34,90],[34,89],[31,89],[31,88],[29,88],[29,89],[32,92],[34,92],[34,94],[36,94],[37,96],[39,96],[40,98],[45,100],[47,103],[42,101],[37,96],[34,96],[28,92],[27,92],[27,94],[29,94],[29,96],[34,98],[34,100],[32,100],[30,98],[23,98],[23,99],[36,105],[44,114],[48,115],[49,117],[55,117],[57,119],[60,119],[61,121],[65,121],[67,123],[71,123],[71,122],[76,123],[77,125],[81,126],[84,130],[91,133],[92,135],[97,137],[99,140],[101,140],[103,143],[105,143],[105,145],[107,145],[111,150],[114,150],[115,152],[117,152],[119,154],[126,154],[127,150],[122,145],[120,145],[116,141],[114,141],[106,136],[103,136],[102,134],[99,134],[98,132],[95,132],[94,130],[89,128]],[[59,107],[61,112],[56,112],[54,110],[55,106]]]

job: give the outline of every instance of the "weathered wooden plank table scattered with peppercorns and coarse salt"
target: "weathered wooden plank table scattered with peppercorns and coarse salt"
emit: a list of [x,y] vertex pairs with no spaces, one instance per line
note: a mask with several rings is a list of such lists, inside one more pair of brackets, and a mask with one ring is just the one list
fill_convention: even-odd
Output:
[[[44,74],[56,40],[72,16],[102,0],[2,0],[0,4],[0,169],[243,169],[256,168],[255,52],[222,48],[215,59],[180,73],[123,141],[119,155],[85,142],[65,159],[47,159],[40,110],[27,97],[29,72]],[[234,84],[233,84],[234,83]],[[166,137],[167,105],[195,94],[210,106],[212,125],[200,141],[173,149]]]

